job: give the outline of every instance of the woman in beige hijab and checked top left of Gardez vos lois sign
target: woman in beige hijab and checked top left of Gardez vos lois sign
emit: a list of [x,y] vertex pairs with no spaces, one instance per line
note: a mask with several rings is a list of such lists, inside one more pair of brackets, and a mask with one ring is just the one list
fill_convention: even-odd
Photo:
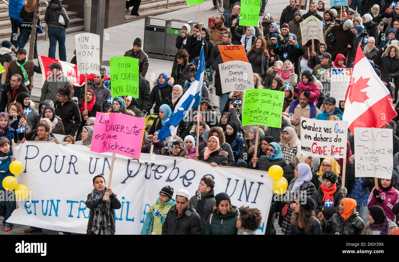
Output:
[[291,162],[292,157],[296,157],[296,154],[300,150],[300,140],[293,127],[288,126],[284,128],[280,135],[279,145],[284,158],[288,162]]

